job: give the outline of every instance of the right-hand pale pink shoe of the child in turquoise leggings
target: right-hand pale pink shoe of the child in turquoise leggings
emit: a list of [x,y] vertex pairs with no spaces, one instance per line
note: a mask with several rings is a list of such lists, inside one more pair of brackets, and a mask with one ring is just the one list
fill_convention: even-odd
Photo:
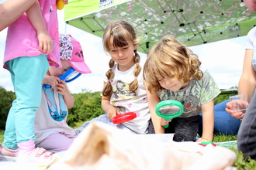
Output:
[[18,163],[45,163],[49,164],[54,161],[54,156],[51,152],[46,151],[44,148],[35,148],[29,155],[25,155],[19,152]]

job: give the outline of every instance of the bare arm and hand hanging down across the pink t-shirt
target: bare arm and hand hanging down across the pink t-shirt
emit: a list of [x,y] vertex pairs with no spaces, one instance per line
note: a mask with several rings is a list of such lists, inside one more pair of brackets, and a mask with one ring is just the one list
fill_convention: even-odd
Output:
[[43,20],[39,2],[35,2],[27,11],[29,21],[36,29],[39,41],[39,50],[43,53],[50,53],[53,50],[53,40],[51,39],[47,27]]

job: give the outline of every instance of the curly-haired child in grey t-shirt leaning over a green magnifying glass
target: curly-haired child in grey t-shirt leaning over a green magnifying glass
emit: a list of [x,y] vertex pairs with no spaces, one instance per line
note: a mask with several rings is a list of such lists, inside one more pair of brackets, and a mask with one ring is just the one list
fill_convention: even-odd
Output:
[[[164,36],[147,55],[144,79],[148,90],[150,114],[157,134],[175,133],[174,141],[195,141],[199,121],[203,122],[202,138],[213,140],[213,99],[219,88],[207,70],[199,68],[198,56],[171,36]],[[178,100],[184,112],[171,121],[155,113],[160,100]],[[202,117],[199,116],[202,110]],[[162,126],[169,124],[164,129]]]

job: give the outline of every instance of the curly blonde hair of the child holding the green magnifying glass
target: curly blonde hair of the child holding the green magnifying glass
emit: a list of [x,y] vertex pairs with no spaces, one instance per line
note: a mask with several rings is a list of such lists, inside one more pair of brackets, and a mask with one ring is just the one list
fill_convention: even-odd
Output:
[[[192,50],[187,49],[182,43],[172,36],[164,36],[157,42],[144,64],[144,80],[148,83],[148,90],[162,90],[158,83],[160,77],[171,77],[189,84],[192,80],[201,80],[203,73],[199,69],[201,62]],[[166,70],[166,68],[169,68]]]

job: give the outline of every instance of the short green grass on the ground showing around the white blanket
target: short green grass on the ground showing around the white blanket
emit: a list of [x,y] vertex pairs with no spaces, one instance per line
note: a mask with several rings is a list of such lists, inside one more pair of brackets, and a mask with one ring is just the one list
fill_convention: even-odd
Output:
[[[73,128],[78,128],[82,122],[78,122]],[[4,140],[3,135],[4,135],[3,130],[0,130],[0,143]],[[223,142],[223,141],[236,141],[237,140],[237,135],[224,135],[224,134],[215,134],[213,137],[213,143],[214,142]],[[230,146],[227,147],[231,151],[234,151],[237,154],[237,160],[234,163],[234,167],[237,168],[237,170],[256,170],[256,161],[251,158],[245,159],[243,157],[243,153],[237,151],[237,148]]]

